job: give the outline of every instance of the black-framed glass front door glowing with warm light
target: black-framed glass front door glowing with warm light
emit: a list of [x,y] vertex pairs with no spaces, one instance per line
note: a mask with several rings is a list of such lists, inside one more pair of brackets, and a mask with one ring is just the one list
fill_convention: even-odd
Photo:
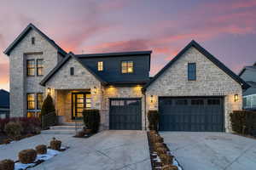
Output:
[[82,118],[84,109],[90,109],[90,93],[72,94],[72,119]]

